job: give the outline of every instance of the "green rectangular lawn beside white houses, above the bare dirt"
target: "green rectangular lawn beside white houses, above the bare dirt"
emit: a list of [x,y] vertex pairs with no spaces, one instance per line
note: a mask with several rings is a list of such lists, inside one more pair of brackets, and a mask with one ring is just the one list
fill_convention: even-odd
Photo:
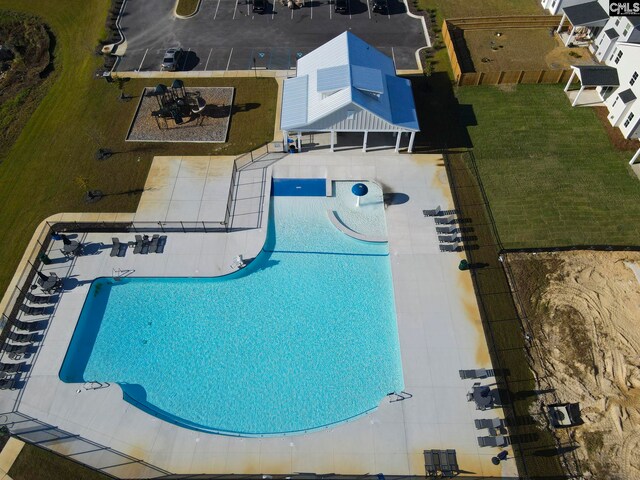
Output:
[[505,248],[638,243],[633,152],[612,148],[592,109],[571,108],[559,85],[456,93]]

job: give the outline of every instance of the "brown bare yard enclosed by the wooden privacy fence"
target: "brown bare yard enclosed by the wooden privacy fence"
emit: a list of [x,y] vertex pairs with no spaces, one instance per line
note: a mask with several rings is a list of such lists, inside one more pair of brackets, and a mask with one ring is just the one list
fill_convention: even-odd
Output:
[[465,30],[476,72],[561,70],[594,63],[586,48],[567,48],[548,28]]

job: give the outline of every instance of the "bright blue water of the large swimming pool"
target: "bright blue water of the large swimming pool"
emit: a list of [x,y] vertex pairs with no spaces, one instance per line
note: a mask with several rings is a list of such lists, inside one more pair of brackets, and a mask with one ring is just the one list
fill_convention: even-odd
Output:
[[273,197],[263,251],[226,277],[97,279],[60,378],[118,383],[153,415],[230,435],[376,408],[404,387],[388,249],[331,224],[336,193]]

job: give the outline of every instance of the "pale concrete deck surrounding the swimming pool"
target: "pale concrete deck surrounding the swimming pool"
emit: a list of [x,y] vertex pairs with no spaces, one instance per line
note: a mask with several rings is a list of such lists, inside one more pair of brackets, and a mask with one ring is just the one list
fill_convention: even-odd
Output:
[[[219,161],[224,163],[224,159]],[[226,208],[226,195],[223,198],[212,194],[211,199],[205,200],[202,194],[212,166],[218,166],[213,157],[154,159],[147,185],[155,187],[145,188],[140,218],[158,219],[163,213],[167,218],[169,212],[186,208],[180,202],[191,202],[189,210],[180,214],[183,220],[197,220],[192,216],[196,211],[198,217],[217,218]],[[464,255],[441,253],[434,220],[422,214],[423,209],[437,205],[453,208],[442,159],[437,155],[397,155],[388,151],[364,154],[358,150],[336,153],[319,150],[285,156],[268,168],[276,177],[373,180],[385,192],[408,197],[405,203],[388,206],[386,220],[405,390],[411,398],[393,403],[385,398],[373,413],[319,432],[237,438],[163,422],[124,402],[117,385],[92,388],[87,384],[65,384],[58,379],[94,278],[112,276],[117,268],[135,270],[136,276],[227,273],[232,270],[236,255],[242,253],[251,258],[259,252],[266,235],[266,228],[262,228],[266,227],[264,215],[258,218],[262,226],[247,225],[247,229],[233,233],[168,233],[167,246],[161,255],[134,256],[128,252],[124,258],[110,257],[111,237],[118,235],[79,236],[83,242],[95,245],[94,254],[45,267],[69,280],[44,341],[29,360],[32,366],[25,375],[24,388],[0,395],[2,412],[18,411],[172,473],[383,472],[424,476],[423,450],[455,449],[460,469],[466,474],[517,477],[510,448],[507,449],[510,459],[495,466],[491,457],[501,449],[480,448],[477,443],[477,437],[487,432],[476,430],[474,419],[504,418],[502,411],[476,410],[466,399],[474,380],[461,380],[458,374],[461,369],[491,368],[491,362],[469,272],[458,270]],[[192,173],[181,177],[180,171]],[[220,166],[219,174],[211,182],[221,188],[224,176],[224,167]],[[228,174],[226,178],[228,188]],[[195,198],[182,199],[182,194],[174,198],[173,192],[191,192]],[[247,214],[255,211],[257,201],[269,201],[268,191],[263,191],[260,200],[250,197],[247,195],[247,201],[253,203],[246,206]],[[133,234],[119,236],[121,240],[133,239]],[[59,248],[59,244],[53,246],[52,258],[61,256]],[[482,380],[483,385],[492,383],[492,379]],[[33,430],[32,425],[22,428],[16,423],[12,431],[28,436],[29,428]],[[68,438],[49,439],[42,445],[64,454],[76,452],[74,441]],[[117,465],[109,460],[108,451],[98,450],[90,455],[75,458],[118,476],[153,476],[135,463]]]

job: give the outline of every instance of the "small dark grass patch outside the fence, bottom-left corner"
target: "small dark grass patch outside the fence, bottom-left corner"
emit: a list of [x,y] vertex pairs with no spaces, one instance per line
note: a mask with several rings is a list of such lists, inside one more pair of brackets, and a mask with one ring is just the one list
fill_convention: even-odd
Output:
[[9,469],[13,480],[107,480],[111,477],[94,472],[42,448],[25,445]]

